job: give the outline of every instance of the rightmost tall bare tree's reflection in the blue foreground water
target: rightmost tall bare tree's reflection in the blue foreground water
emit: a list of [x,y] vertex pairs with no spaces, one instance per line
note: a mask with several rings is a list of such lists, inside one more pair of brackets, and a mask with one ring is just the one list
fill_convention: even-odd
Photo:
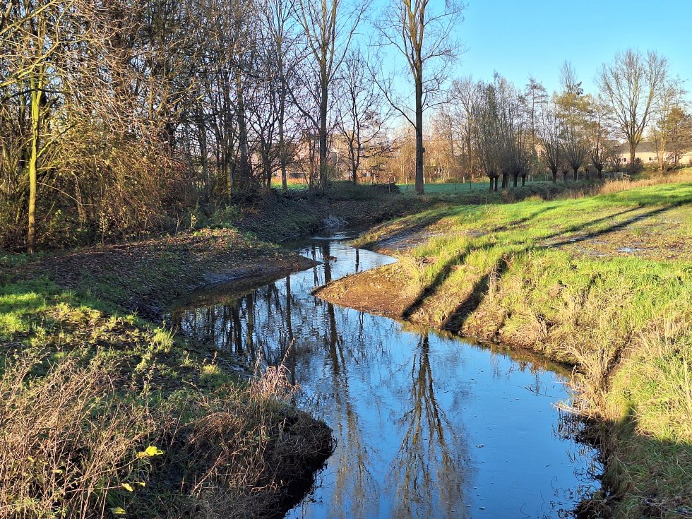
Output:
[[436,398],[428,334],[411,366],[410,408],[402,417],[401,446],[391,465],[396,518],[465,517],[465,445]]

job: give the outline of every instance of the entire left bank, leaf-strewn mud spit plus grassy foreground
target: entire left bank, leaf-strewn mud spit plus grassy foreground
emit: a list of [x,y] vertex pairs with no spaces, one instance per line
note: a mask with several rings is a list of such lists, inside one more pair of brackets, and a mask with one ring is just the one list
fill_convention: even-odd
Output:
[[[142,316],[201,283],[307,266],[231,230],[0,269],[0,517],[265,517],[332,448],[280,370]],[[130,309],[131,311],[126,311]]]

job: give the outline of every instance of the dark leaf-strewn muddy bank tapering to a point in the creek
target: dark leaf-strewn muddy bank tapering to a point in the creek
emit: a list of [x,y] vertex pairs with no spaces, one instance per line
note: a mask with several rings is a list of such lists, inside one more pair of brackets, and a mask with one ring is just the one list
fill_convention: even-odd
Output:
[[4,280],[46,276],[159,322],[178,297],[203,285],[282,275],[314,263],[297,253],[250,239],[234,229],[204,229],[130,244],[51,253],[23,266],[1,268]]

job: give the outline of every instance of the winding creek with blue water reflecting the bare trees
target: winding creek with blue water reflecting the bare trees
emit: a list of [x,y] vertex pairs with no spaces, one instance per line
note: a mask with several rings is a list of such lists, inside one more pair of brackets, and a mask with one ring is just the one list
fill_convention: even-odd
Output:
[[259,286],[203,289],[170,316],[248,364],[285,362],[297,406],[333,429],[335,453],[285,517],[569,515],[599,484],[597,452],[574,441],[556,408],[568,374],[318,299],[316,287],[395,261],[348,246],[351,237],[298,242],[322,263]]

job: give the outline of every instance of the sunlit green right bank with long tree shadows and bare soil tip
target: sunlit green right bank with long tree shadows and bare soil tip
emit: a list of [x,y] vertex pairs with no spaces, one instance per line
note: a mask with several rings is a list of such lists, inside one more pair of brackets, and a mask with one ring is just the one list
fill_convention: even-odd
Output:
[[575,364],[575,407],[607,424],[605,490],[592,511],[684,516],[692,511],[692,183],[604,191],[613,192],[447,204],[395,220],[360,244],[407,247],[398,263],[318,293]]

